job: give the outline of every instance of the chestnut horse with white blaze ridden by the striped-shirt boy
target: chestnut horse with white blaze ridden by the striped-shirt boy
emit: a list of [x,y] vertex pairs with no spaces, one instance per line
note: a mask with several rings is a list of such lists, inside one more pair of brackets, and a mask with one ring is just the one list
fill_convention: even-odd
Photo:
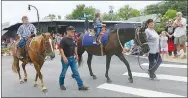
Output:
[[[27,72],[25,70],[26,64],[29,63],[29,59],[19,59],[16,55],[16,48],[17,43],[19,40],[16,41],[16,43],[13,44],[12,47],[12,53],[13,53],[13,64],[12,64],[12,70],[13,72],[18,73],[20,84],[27,82]],[[42,90],[43,92],[47,91],[47,88],[44,85],[43,82],[43,76],[40,72],[42,65],[44,64],[45,57],[50,56],[51,59],[55,57],[54,52],[54,42],[52,39],[52,36],[50,33],[42,33],[39,36],[33,37],[32,39],[28,39],[26,42],[26,51],[28,53],[28,56],[31,60],[31,62],[34,64],[35,70],[36,70],[36,77],[35,77],[35,84],[34,87],[38,86],[37,79],[41,80]],[[20,67],[19,67],[19,61],[22,61],[22,68],[24,71],[24,81],[22,80],[22,77],[20,75]]]

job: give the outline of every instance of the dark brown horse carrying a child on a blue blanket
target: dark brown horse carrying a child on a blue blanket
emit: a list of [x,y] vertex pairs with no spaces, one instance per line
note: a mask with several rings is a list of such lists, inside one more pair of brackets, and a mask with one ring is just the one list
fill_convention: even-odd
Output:
[[[79,56],[79,66],[81,65],[82,60],[82,54],[84,51],[87,51],[88,53],[88,59],[87,64],[89,68],[90,75],[93,77],[93,79],[96,79],[96,75],[93,74],[92,68],[91,68],[91,60],[93,55],[101,56],[101,47],[100,45],[93,45],[93,46],[83,46],[82,45],[82,39],[84,35],[81,35],[79,37],[78,41],[78,56]],[[147,36],[144,33],[144,28],[112,28],[110,29],[109,35],[108,35],[108,42],[107,44],[103,45],[103,53],[106,55],[106,73],[105,77],[107,78],[107,82],[112,82],[111,79],[108,76],[108,70],[110,68],[110,61],[111,57],[113,55],[116,55],[126,66],[128,70],[129,78],[128,80],[132,83],[132,73],[130,69],[130,65],[128,61],[125,59],[122,50],[123,45],[125,42],[128,42],[132,39],[135,39],[135,43],[140,46],[143,53],[147,53],[149,51],[149,46],[147,44]]]

